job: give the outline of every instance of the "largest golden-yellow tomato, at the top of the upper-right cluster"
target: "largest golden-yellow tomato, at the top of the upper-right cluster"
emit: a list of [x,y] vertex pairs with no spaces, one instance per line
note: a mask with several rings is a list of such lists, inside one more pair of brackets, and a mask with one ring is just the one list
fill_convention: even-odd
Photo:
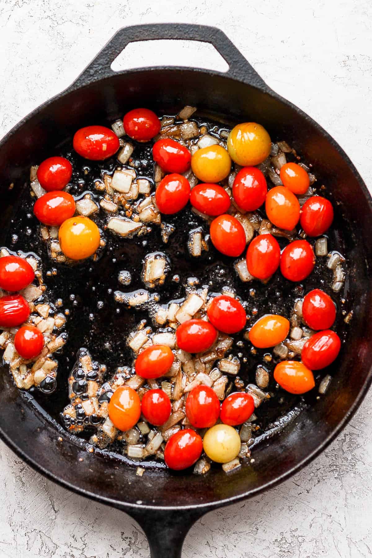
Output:
[[270,136],[263,126],[244,122],[233,128],[228,137],[228,151],[235,163],[241,166],[259,165],[270,154]]

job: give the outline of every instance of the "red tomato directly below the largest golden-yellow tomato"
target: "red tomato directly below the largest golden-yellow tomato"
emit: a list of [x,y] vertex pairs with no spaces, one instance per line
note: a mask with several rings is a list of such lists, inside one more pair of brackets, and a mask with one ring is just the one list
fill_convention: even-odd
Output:
[[266,194],[266,179],[257,167],[244,167],[235,176],[233,196],[241,209],[255,211],[264,203]]

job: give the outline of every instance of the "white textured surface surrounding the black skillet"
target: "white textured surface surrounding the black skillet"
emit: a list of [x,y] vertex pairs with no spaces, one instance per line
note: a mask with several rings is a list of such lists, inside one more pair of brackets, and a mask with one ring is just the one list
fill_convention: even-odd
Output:
[[[222,28],[260,75],[345,148],[372,187],[370,0],[0,0],[0,133],[74,80],[119,27],[151,22]],[[132,45],[133,46],[133,45]],[[127,67],[190,62],[212,49],[125,52]],[[372,556],[372,394],[315,462],[246,503],[207,514],[187,557]],[[0,556],[148,557],[123,513],[45,480],[0,442]],[[166,557],[165,557],[166,558]]]

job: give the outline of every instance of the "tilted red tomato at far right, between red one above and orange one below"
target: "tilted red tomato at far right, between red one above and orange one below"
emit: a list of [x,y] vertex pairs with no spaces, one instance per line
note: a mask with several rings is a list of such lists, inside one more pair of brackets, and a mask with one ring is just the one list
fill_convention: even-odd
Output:
[[341,339],[334,331],[319,331],[303,345],[301,360],[307,368],[320,370],[334,362],[341,349]]

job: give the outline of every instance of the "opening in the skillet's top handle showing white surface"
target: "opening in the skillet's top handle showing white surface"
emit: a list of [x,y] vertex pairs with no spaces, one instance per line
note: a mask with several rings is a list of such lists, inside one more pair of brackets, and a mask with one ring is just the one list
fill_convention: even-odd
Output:
[[153,40],[130,43],[112,62],[113,71],[142,66],[193,66],[226,72],[228,63],[206,42]]

